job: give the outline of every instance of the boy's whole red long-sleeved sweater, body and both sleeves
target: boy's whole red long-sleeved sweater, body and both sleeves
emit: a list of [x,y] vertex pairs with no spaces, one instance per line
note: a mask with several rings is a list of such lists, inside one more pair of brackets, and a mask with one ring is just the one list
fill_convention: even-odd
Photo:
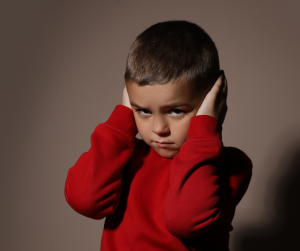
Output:
[[252,162],[223,146],[221,131],[212,116],[192,117],[187,141],[167,159],[135,137],[133,111],[117,105],[65,183],[76,212],[106,217],[101,251],[229,250],[231,221]]

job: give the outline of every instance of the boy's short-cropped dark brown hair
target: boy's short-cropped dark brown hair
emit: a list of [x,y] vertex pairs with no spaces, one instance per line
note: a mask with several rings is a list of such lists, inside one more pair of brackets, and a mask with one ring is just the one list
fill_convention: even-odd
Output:
[[125,82],[144,86],[185,80],[200,94],[208,91],[219,72],[218,50],[201,27],[166,21],[150,26],[132,43]]

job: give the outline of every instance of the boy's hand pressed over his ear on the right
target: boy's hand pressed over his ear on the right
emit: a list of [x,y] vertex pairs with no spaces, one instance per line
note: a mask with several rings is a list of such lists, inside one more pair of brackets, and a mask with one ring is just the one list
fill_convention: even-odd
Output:
[[213,85],[211,90],[206,94],[197,115],[209,115],[220,121],[223,124],[226,112],[228,110],[227,99],[227,79],[224,71]]

